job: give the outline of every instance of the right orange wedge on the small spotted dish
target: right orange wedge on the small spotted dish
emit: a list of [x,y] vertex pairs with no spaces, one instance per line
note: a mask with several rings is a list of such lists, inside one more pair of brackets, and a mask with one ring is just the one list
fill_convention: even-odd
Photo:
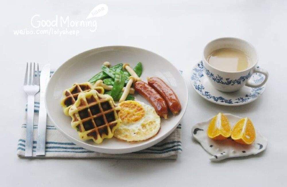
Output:
[[255,129],[249,118],[239,120],[233,127],[231,138],[240,144],[252,144],[255,140]]

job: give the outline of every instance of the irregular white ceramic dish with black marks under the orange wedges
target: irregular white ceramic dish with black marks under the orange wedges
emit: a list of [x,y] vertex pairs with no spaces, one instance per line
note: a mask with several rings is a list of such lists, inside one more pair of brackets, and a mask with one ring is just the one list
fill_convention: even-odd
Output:
[[[232,114],[224,115],[228,118],[231,127],[233,127],[237,121],[242,119],[241,117]],[[258,154],[266,149],[267,139],[256,129],[256,124],[254,124],[256,138],[250,145],[239,144],[231,138],[227,138],[225,140],[213,140],[209,138],[206,131],[212,118],[208,121],[195,124],[191,129],[192,136],[195,140],[197,140],[201,146],[212,155],[212,157],[210,157],[210,161],[216,162],[232,157],[246,157],[251,154]]]

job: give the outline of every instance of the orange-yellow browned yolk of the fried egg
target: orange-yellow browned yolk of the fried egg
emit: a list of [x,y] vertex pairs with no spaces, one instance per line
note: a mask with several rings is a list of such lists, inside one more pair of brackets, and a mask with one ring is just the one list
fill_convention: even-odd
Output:
[[119,104],[119,118],[123,123],[133,123],[141,120],[145,116],[144,107],[136,101],[124,101]]

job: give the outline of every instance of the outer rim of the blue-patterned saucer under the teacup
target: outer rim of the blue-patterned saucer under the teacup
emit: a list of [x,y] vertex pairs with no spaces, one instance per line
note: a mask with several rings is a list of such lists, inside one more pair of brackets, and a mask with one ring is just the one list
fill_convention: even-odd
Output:
[[[199,62],[200,62],[200,60],[199,60]],[[249,101],[243,102],[243,103],[228,104],[228,103],[216,102],[216,101],[214,101],[214,100],[212,100],[212,99],[208,99],[208,98],[204,97],[203,95],[201,95],[197,89],[195,89],[195,87],[194,87],[194,85],[193,85],[193,81],[191,80],[191,75],[192,75],[192,73],[193,73],[193,71],[194,71],[193,69],[197,66],[197,64],[199,64],[199,62],[197,62],[197,63],[192,67],[192,69],[191,69],[191,71],[190,71],[190,75],[189,75],[189,82],[190,82],[190,84],[191,84],[191,87],[193,87],[193,89],[195,90],[195,92],[198,93],[198,95],[200,95],[200,96],[201,96],[202,98],[204,98],[205,100],[208,100],[209,102],[212,102],[212,103],[218,104],[218,105],[222,105],[222,106],[241,106],[241,105],[245,105],[245,104],[249,104],[249,103],[254,102],[256,99],[258,99],[258,98],[263,94],[263,92],[264,92],[265,89],[266,89],[266,84],[267,84],[267,83],[265,83],[264,85],[261,86],[261,87],[264,87],[264,89],[262,90],[262,92],[261,92],[260,95],[258,95],[256,98],[252,98],[252,99],[250,99]],[[203,79],[207,79],[207,77],[206,77],[206,76],[203,76]],[[209,80],[208,80],[208,81],[209,81]],[[245,85],[244,85],[244,86],[245,86]],[[216,89],[216,88],[214,88],[214,89]]]

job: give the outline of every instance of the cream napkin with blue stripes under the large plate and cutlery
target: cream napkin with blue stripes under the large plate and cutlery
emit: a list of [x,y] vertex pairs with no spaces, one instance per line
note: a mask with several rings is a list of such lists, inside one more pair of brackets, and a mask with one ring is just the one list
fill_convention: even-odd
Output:
[[[40,93],[35,96],[35,101],[39,101]],[[164,140],[158,144],[133,153],[126,154],[105,154],[93,152],[85,148],[79,147],[67,140],[53,125],[49,117],[47,117],[46,127],[46,155],[36,156],[37,146],[37,130],[39,102],[35,102],[34,108],[34,131],[33,131],[33,156],[32,158],[119,158],[119,159],[177,159],[179,153],[182,152],[181,147],[181,124]],[[59,106],[60,107],[60,106]],[[27,105],[26,105],[27,112]],[[26,123],[25,112],[25,123]],[[25,157],[25,139],[26,124],[21,125],[21,135],[18,141],[17,154],[19,157]]]

